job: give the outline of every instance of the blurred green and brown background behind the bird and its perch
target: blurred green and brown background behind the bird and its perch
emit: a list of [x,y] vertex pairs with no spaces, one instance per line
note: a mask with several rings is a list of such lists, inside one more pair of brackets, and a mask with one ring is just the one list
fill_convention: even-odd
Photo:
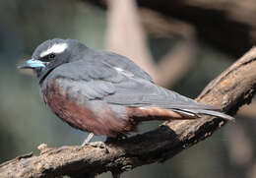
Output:
[[[8,0],[0,1],[0,14],[0,162],[37,153],[42,143],[80,145],[87,137],[44,105],[32,71],[16,68],[46,39],[76,38],[126,55],[159,85],[192,98],[256,41],[253,0]],[[255,101],[235,117],[193,148],[123,177],[255,178]]]

